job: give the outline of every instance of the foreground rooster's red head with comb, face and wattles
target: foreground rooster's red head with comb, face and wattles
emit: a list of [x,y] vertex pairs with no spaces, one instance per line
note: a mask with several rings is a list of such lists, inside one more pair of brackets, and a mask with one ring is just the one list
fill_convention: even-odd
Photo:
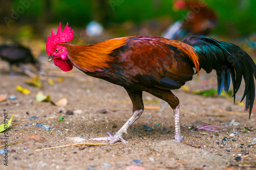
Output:
[[68,52],[65,46],[61,43],[69,42],[74,37],[74,32],[69,27],[67,23],[65,29],[61,31],[61,23],[59,23],[59,28],[55,34],[52,30],[51,37],[48,37],[46,42],[46,51],[49,56],[49,60],[54,61],[54,64],[58,66],[62,71],[70,71],[73,68],[72,63],[68,59]]

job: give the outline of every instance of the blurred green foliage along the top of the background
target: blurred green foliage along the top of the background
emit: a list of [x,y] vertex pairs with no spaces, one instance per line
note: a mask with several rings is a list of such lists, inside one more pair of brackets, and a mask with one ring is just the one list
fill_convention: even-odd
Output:
[[[21,1],[13,0],[15,10]],[[140,23],[151,18],[168,16],[173,21],[182,19],[187,11],[173,11],[170,0],[52,0],[50,6],[45,0],[31,0],[29,7],[20,14],[19,23],[34,23],[44,18],[47,23],[70,22],[72,25],[84,27],[91,20],[100,20],[104,26],[110,23],[123,23],[127,20]],[[104,2],[104,5],[101,3]],[[219,15],[219,27],[215,30],[219,35],[247,35],[256,31],[255,0],[205,0],[208,6]],[[102,13],[102,10],[105,13]],[[50,14],[49,14],[50,12]],[[100,16],[102,15],[102,16]],[[101,18],[101,19],[100,19]]]

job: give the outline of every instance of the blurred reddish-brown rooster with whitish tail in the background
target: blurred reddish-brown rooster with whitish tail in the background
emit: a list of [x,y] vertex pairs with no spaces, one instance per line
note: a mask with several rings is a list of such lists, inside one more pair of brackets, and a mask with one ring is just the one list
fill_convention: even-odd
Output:
[[204,1],[177,0],[174,1],[173,8],[189,12],[161,35],[164,38],[182,40],[189,35],[208,35],[217,26],[216,12],[208,8]]

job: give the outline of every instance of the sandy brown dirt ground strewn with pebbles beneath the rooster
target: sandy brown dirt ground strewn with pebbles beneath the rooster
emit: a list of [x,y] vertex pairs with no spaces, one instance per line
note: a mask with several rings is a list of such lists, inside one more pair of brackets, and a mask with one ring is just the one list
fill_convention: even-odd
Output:
[[[8,145],[8,166],[4,165],[3,154],[0,169],[135,169],[130,165],[140,166],[139,169],[256,169],[256,145],[250,145],[256,143],[256,108],[248,119],[244,106],[234,105],[221,96],[195,95],[182,89],[173,91],[182,109],[184,140],[181,144],[170,141],[174,138],[173,110],[164,101],[143,93],[144,105],[155,107],[145,109],[124,135],[129,143],[70,145],[36,151],[91,142],[88,139],[107,136],[108,131],[114,134],[132,115],[130,98],[122,87],[88,77],[77,69],[62,72],[53,62],[47,62],[46,55],[40,60],[46,71],[40,77],[41,89],[26,85],[24,82],[31,79],[26,75],[10,76],[8,64],[1,61],[0,94],[7,93],[8,98],[15,95],[17,99],[0,103],[0,124],[4,123],[4,113],[8,113],[8,118],[13,115],[7,140],[22,142]],[[59,77],[63,78],[62,82],[58,81]],[[54,86],[48,83],[49,78]],[[215,80],[215,73],[206,75],[202,71],[186,87],[216,89]],[[17,85],[31,93],[24,95],[16,91]],[[67,98],[68,105],[60,108],[37,102],[38,91],[49,94],[54,102]],[[238,98],[242,92],[239,91]],[[74,114],[66,114],[68,110]],[[247,114],[236,115],[237,112]],[[64,120],[58,122],[60,116]],[[36,123],[49,125],[51,130],[36,127]],[[217,132],[198,130],[209,125],[221,128]],[[4,144],[4,133],[0,137]]]

